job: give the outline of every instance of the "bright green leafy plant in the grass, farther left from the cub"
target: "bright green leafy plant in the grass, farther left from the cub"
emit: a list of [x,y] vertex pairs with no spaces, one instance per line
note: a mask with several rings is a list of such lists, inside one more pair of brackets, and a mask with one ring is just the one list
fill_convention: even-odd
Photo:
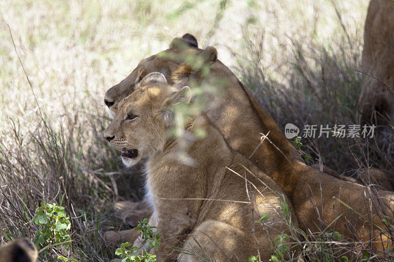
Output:
[[71,228],[71,223],[63,206],[42,201],[35,210],[33,222],[41,228],[35,232],[36,235],[33,238],[33,243],[38,248],[70,244],[70,235],[67,232]]

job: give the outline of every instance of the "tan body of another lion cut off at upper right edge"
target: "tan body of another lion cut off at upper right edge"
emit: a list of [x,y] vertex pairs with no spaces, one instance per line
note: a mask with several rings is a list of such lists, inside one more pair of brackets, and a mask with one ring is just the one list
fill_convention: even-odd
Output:
[[361,124],[388,125],[394,121],[394,1],[371,0],[364,29],[362,71],[364,76],[359,98]]

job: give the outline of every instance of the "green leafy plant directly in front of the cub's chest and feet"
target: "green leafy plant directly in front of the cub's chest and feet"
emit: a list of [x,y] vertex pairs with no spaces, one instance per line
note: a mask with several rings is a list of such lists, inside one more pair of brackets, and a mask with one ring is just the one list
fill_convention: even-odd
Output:
[[[116,249],[115,255],[123,258],[122,262],[154,262],[156,261],[156,255],[151,255],[145,249],[145,244],[149,244],[149,247],[159,249],[160,242],[160,232],[153,233],[153,229],[156,227],[152,227],[148,224],[149,218],[145,218],[144,220],[138,223],[138,226],[134,229],[136,231],[140,231],[139,236],[143,239],[142,245],[140,248],[131,247],[131,243],[126,242],[120,245],[120,248]],[[138,253],[134,255],[135,253]]]

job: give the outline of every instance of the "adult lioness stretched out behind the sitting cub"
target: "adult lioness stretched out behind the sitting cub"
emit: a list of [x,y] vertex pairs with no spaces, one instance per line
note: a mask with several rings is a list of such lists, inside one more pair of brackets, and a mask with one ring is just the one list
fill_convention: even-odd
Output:
[[[196,58],[187,62],[182,59],[190,58],[190,54]],[[201,63],[210,66],[208,73],[205,67],[196,66]],[[125,80],[106,92],[104,102],[111,114],[123,98],[138,89],[144,76],[155,71],[164,74],[171,85],[193,87],[197,83],[215,91],[214,95],[206,95],[204,113],[233,150],[251,159],[283,188],[305,232],[329,228],[354,240],[368,241],[380,235],[378,227],[387,228],[382,214],[393,216],[391,193],[372,194],[368,187],[341,181],[307,166],[272,117],[230,69],[217,60],[216,49],[198,49],[196,39],[189,34],[175,38],[168,50],[143,59]],[[373,225],[368,223],[371,220]],[[377,248],[384,245],[377,244]]]

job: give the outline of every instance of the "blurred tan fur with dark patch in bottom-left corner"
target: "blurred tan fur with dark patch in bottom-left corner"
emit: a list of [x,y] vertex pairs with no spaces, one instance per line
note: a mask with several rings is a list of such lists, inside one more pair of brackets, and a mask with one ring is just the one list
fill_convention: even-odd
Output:
[[0,247],[0,262],[35,262],[38,252],[28,238],[20,238]]

